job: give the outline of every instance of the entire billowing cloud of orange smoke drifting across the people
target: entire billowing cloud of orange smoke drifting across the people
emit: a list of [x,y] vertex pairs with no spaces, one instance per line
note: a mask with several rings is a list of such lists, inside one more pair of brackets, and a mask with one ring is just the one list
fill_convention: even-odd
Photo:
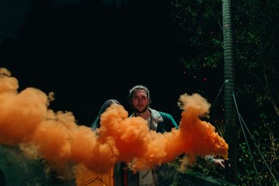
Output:
[[[199,119],[209,103],[200,95],[181,95],[179,130],[149,131],[140,117],[112,104],[101,116],[100,129],[77,125],[70,112],[48,108],[50,98],[36,88],[17,93],[17,79],[0,68],[0,144],[20,144],[24,153],[46,160],[54,169],[84,164],[106,173],[116,162],[130,162],[134,171],[174,160],[186,153],[227,158],[227,144],[210,124]],[[50,97],[50,95],[49,95]]]

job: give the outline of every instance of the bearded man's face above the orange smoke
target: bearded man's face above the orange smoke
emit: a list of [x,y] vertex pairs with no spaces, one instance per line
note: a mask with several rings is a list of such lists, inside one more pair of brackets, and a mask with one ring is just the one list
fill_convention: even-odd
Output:
[[149,99],[147,98],[146,91],[134,91],[131,104],[137,113],[143,113],[146,111],[149,105]]

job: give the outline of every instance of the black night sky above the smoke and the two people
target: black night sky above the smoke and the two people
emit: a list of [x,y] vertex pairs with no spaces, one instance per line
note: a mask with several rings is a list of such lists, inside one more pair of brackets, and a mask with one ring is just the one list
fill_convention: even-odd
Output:
[[212,101],[218,93],[206,92],[212,91],[210,79],[202,80],[206,75],[190,76],[179,63],[169,1],[128,1],[118,8],[89,0],[22,2],[1,3],[1,10],[7,7],[1,67],[18,79],[19,91],[31,86],[54,92],[50,109],[72,111],[80,125],[91,125],[110,98],[130,112],[128,91],[135,84],[147,86],[151,107],[177,122],[179,95],[204,93]]

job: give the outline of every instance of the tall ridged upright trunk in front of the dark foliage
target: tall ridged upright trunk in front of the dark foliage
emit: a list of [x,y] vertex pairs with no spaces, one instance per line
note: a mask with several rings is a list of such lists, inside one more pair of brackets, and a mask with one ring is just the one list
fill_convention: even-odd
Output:
[[237,125],[236,111],[232,93],[234,91],[233,29],[231,1],[223,0],[223,45],[225,78],[225,140],[229,144],[229,164],[226,167],[226,179],[237,183]]

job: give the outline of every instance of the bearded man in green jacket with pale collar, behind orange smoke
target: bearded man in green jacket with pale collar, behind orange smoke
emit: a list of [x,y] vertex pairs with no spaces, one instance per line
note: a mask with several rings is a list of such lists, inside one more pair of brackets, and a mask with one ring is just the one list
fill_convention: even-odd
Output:
[[[174,118],[165,112],[156,111],[151,109],[149,89],[143,85],[136,85],[129,91],[130,104],[133,107],[133,114],[130,117],[140,116],[147,121],[149,130],[156,132],[170,132],[172,128],[178,128]],[[209,158],[214,164],[222,164],[224,160],[216,160],[213,157]],[[140,186],[153,186],[153,185],[170,185],[173,181],[176,170],[168,164],[157,166],[155,169],[142,170],[138,173],[133,173],[123,168],[123,165],[118,170],[126,169],[121,172],[123,178],[123,185],[140,185]]]

